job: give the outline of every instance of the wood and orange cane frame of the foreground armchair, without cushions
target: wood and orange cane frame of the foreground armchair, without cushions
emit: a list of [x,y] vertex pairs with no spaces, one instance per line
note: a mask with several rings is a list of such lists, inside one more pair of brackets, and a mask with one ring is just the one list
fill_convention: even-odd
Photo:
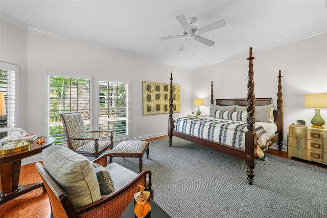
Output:
[[[111,158],[110,154],[105,154],[92,162],[106,166],[107,164],[111,164]],[[106,195],[100,200],[81,208],[74,208],[65,192],[50,176],[50,173],[44,168],[44,166],[39,162],[35,165],[42,177],[45,189],[48,192],[52,215],[54,217],[120,217],[133,199],[134,193],[139,191],[138,184],[148,187],[147,190],[150,191],[150,197],[153,199],[151,171],[144,170],[125,186],[115,190],[109,195]]]

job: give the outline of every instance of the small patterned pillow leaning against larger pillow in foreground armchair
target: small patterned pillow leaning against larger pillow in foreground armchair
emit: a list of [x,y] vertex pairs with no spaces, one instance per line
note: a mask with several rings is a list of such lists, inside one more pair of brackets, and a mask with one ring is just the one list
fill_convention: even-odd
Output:
[[93,162],[92,162],[92,167],[98,177],[100,193],[111,194],[114,191],[114,187],[109,171],[105,167],[101,166],[100,164],[93,163]]

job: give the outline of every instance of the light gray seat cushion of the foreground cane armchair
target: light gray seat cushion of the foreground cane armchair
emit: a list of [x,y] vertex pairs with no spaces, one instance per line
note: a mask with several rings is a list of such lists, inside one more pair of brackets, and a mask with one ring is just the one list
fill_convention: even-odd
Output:
[[136,172],[126,169],[117,163],[111,163],[105,166],[105,168],[110,173],[111,179],[114,183],[114,190],[120,189],[138,176]]

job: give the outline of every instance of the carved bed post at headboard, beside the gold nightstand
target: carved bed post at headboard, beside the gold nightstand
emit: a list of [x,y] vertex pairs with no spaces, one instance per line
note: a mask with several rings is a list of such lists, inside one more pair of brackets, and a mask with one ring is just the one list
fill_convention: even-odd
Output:
[[276,115],[278,117],[277,119],[277,130],[279,132],[278,134],[278,150],[282,150],[283,146],[283,126],[284,126],[284,111],[283,111],[283,93],[282,93],[282,74],[281,70],[279,70],[278,74],[278,92],[277,92],[277,111]]

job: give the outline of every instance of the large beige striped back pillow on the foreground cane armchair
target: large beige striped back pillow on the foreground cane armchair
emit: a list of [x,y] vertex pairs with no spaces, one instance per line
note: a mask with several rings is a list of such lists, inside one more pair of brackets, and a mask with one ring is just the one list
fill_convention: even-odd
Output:
[[75,208],[101,199],[99,182],[91,162],[62,145],[42,150],[43,165]]

